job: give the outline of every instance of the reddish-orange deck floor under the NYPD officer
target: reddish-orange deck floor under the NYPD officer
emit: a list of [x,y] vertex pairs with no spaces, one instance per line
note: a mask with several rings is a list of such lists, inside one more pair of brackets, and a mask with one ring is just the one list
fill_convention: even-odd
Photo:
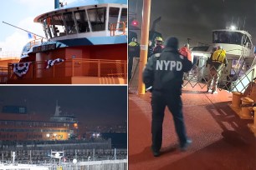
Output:
[[192,145],[178,148],[172,114],[166,108],[161,157],[151,153],[151,94],[129,95],[129,170],[255,170],[256,138],[248,122],[228,106],[232,93],[207,93],[206,87],[183,88],[183,113]]

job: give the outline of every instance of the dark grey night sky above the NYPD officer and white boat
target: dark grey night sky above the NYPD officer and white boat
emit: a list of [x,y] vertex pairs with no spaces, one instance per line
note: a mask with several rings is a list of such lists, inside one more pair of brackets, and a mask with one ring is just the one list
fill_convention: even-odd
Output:
[[[136,13],[140,24],[141,11],[142,0],[129,0],[129,13]],[[164,38],[178,37],[182,44],[189,37],[192,46],[197,42],[212,42],[212,30],[225,29],[232,19],[234,25],[243,28],[245,17],[245,30],[253,36],[253,44],[256,45],[255,16],[255,0],[151,0],[151,23],[161,17],[156,31],[161,32]]]

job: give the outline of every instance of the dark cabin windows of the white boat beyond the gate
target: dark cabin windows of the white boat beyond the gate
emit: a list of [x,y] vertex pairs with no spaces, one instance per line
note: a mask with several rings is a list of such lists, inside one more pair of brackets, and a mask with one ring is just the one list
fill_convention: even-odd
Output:
[[213,43],[228,43],[241,45],[242,33],[241,32],[213,32],[212,34]]

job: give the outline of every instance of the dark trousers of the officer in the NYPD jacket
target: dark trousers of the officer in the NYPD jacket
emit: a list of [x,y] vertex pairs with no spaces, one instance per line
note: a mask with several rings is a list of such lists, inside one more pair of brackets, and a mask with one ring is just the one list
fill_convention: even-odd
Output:
[[172,112],[175,130],[179,138],[180,145],[187,142],[186,129],[183,121],[182,98],[179,94],[173,95],[165,92],[152,92],[152,148],[156,151],[161,149],[162,143],[162,122],[166,106]]

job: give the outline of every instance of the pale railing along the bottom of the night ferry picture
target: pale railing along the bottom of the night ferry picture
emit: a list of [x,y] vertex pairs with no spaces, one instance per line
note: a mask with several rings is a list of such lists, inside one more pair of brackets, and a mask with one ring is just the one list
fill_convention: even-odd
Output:
[[[90,144],[90,143],[87,143]],[[64,148],[64,147],[62,147]],[[53,163],[54,160],[51,160],[49,157],[49,152],[52,148],[23,148],[23,150],[17,150],[17,148],[9,149],[8,147],[2,149],[0,151],[0,157],[3,157],[1,161],[8,163],[12,160],[11,152],[15,151],[16,153],[16,163],[45,163],[47,160],[48,163]],[[58,149],[61,151],[62,149]],[[88,161],[90,157],[90,161],[101,161],[101,160],[115,160],[115,159],[125,159],[127,158],[127,149],[125,148],[74,148],[64,149],[64,157],[67,162],[73,161],[74,158],[77,158],[79,162]],[[63,161],[63,160],[62,160]]]

